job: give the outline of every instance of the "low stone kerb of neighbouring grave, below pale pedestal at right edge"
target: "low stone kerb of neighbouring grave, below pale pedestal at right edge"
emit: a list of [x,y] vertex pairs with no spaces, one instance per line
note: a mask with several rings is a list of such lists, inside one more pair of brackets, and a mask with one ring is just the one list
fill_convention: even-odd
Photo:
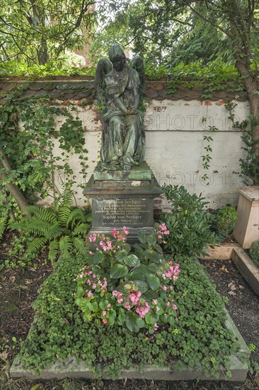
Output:
[[241,247],[234,249],[232,260],[238,271],[246,279],[246,282],[259,295],[259,268],[256,267],[255,263]]

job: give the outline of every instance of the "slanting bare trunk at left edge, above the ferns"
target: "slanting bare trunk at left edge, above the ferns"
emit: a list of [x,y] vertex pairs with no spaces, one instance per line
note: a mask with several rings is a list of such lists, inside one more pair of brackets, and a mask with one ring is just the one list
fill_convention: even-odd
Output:
[[[1,167],[4,167],[11,172],[11,167],[8,163],[7,157],[4,154],[4,151],[0,148],[0,168]],[[4,174],[4,172],[0,172],[0,180],[3,179],[6,179],[6,174]],[[30,211],[28,211],[28,201],[26,201],[18,186],[13,183],[5,183],[4,185],[6,186],[6,189],[10,192],[10,194],[13,196],[13,198],[16,199],[16,202],[21,209],[23,215],[29,216]]]

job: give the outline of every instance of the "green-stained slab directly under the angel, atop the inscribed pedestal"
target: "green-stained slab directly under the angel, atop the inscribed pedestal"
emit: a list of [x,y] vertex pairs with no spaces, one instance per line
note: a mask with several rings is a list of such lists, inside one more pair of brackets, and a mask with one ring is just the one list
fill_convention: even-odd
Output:
[[151,169],[146,162],[142,162],[142,164],[137,165],[136,167],[132,167],[130,171],[103,171],[101,172],[98,169],[98,165],[96,169],[93,171],[93,179],[97,180],[151,180]]

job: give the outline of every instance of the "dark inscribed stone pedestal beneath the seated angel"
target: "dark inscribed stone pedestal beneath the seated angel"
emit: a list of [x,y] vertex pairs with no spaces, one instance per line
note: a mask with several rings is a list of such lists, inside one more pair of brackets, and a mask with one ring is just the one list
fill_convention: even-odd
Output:
[[110,234],[126,226],[128,242],[137,242],[138,233],[154,227],[153,199],[161,193],[146,162],[129,172],[100,172],[96,167],[83,191],[92,200],[91,233]]

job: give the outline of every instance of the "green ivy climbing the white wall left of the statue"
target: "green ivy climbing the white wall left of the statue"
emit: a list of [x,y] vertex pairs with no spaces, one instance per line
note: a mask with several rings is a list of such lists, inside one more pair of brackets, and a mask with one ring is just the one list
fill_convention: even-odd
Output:
[[[11,165],[11,172],[0,169],[6,174],[0,188],[6,194],[4,184],[15,183],[29,202],[35,201],[35,189],[42,198],[48,194],[56,198],[59,189],[54,175],[64,188],[76,184],[68,163],[72,152],[79,155],[83,181],[86,177],[87,150],[82,123],[68,107],[54,105],[47,97],[25,99],[20,94],[21,90],[13,91],[0,104],[0,147]],[[60,130],[56,130],[57,118],[63,120]],[[23,131],[19,121],[23,123]],[[55,138],[63,150],[61,157],[54,153]]]

